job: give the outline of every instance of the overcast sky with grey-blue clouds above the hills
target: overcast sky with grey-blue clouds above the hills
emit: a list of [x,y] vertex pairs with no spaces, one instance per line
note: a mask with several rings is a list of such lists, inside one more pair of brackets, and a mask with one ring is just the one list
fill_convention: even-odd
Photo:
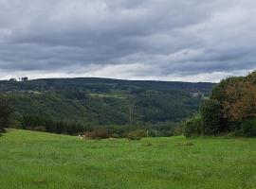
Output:
[[255,0],[0,0],[0,79],[247,75],[255,15]]

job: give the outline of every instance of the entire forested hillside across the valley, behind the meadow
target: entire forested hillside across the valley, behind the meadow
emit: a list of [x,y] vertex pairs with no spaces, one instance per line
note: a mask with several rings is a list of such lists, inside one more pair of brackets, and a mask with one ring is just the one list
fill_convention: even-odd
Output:
[[51,78],[0,81],[11,104],[12,127],[77,134],[95,128],[121,135],[130,129],[172,134],[194,114],[212,83]]

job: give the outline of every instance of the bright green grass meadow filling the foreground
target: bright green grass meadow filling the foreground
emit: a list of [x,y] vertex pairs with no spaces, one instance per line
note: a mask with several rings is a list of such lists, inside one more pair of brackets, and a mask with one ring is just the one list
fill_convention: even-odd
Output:
[[10,129],[0,137],[1,189],[253,189],[256,139],[85,141]]

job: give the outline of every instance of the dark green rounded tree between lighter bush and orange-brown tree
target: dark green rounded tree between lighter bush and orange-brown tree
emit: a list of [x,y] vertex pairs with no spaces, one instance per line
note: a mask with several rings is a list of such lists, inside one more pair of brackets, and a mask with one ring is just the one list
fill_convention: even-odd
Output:
[[202,134],[214,135],[220,132],[221,105],[214,99],[206,99],[200,106]]

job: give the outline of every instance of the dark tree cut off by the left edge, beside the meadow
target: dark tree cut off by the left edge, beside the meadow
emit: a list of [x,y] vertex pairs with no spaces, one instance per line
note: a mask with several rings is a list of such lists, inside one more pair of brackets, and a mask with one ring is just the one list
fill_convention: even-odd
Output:
[[0,95],[0,132],[4,132],[11,124],[13,110],[5,96]]

